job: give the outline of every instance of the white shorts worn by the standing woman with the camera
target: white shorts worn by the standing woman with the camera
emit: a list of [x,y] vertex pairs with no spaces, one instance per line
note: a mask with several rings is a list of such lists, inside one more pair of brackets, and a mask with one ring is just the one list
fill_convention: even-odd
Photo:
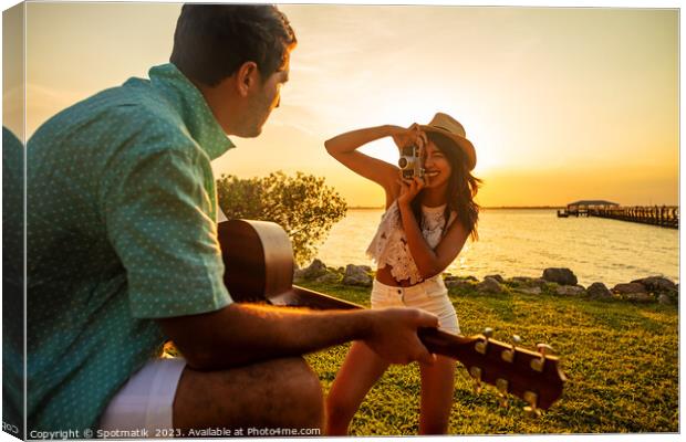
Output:
[[415,307],[438,316],[438,328],[459,335],[455,307],[443,277],[435,276],[412,287],[394,287],[374,280],[372,308]]

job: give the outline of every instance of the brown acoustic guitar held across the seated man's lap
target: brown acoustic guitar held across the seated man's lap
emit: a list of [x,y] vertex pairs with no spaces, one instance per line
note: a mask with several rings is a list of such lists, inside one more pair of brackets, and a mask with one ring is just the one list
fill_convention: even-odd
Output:
[[[314,309],[364,308],[357,304],[293,285],[293,250],[285,231],[266,221],[230,220],[218,224],[225,263],[224,282],[236,302],[268,303]],[[429,351],[460,361],[475,379],[502,393],[523,399],[528,411],[548,409],[562,394],[567,380],[559,359],[490,338],[489,332],[459,336],[437,328],[419,328]]]

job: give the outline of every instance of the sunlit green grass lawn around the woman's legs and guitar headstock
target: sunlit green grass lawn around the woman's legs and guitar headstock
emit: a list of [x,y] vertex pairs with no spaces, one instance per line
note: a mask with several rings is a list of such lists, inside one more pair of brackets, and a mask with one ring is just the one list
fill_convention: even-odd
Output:
[[[303,286],[368,306],[368,290],[336,284]],[[497,392],[476,394],[458,365],[449,433],[635,433],[678,432],[678,312],[675,306],[591,301],[552,294],[501,295],[451,290],[461,333],[485,327],[495,338],[522,337],[522,346],[548,343],[569,378],[561,399],[540,418]],[[309,355],[326,392],[349,346]],[[392,366],[370,391],[351,425],[353,435],[417,434],[419,371]]]

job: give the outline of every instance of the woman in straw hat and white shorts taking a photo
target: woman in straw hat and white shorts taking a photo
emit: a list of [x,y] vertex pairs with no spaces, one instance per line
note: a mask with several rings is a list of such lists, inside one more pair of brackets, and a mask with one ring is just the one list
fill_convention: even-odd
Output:
[[[424,177],[403,179],[399,169],[356,149],[386,136],[403,148],[415,145]],[[378,183],[386,192],[386,212],[367,254],[377,264],[372,308],[408,306],[438,316],[439,328],[459,334],[455,308],[441,272],[457,257],[467,236],[476,240],[479,207],[474,202],[480,180],[470,175],[476,152],[462,126],[438,113],[425,126],[380,126],[353,130],[325,143],[335,159]],[[346,434],[367,391],[388,362],[361,341],[353,343],[326,399],[328,434]],[[453,404],[455,361],[437,356],[422,364],[419,433],[445,434]]]

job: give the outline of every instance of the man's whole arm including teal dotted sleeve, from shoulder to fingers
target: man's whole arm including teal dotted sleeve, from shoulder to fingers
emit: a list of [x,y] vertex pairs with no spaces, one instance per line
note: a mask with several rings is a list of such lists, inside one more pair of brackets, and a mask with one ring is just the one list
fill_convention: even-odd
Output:
[[[143,141],[141,141],[143,143]],[[162,324],[193,368],[221,369],[364,339],[395,362],[429,359],[418,311],[306,312],[230,304],[195,150],[124,149],[103,179],[102,211],[126,269],[131,312]],[[227,306],[228,304],[228,306]],[[208,313],[210,312],[210,313]]]

